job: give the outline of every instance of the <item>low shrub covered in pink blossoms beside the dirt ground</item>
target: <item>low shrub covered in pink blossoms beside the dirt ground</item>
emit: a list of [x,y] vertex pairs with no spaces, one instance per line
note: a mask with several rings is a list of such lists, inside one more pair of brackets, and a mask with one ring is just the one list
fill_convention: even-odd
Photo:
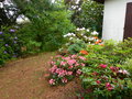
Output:
[[67,84],[75,76],[81,75],[86,58],[78,55],[57,55],[52,62],[50,69],[50,85]]

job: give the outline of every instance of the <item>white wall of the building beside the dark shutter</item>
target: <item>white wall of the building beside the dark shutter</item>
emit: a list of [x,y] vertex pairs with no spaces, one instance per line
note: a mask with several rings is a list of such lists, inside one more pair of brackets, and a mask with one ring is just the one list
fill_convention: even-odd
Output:
[[132,0],[106,0],[103,16],[103,40],[123,40],[127,2]]

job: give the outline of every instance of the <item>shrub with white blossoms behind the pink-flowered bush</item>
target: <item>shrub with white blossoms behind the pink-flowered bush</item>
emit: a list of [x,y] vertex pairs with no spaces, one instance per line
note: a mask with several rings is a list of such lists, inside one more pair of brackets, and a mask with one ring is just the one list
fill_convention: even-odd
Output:
[[67,43],[64,48],[67,48],[69,53],[76,54],[86,48],[88,44],[99,45],[102,41],[98,38],[98,32],[90,31],[89,29],[76,29],[75,33],[68,33],[64,35],[67,38]]

